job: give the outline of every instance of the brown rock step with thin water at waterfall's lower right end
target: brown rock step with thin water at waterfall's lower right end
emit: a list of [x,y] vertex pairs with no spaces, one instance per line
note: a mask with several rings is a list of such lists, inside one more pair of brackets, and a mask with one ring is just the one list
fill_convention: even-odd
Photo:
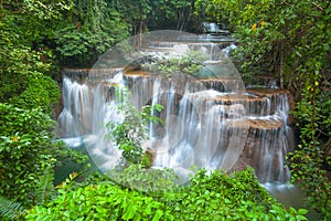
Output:
[[274,180],[286,182],[289,169],[285,167],[284,159],[286,152],[293,148],[292,134],[288,133],[281,120],[255,119],[248,120],[248,124],[243,152],[232,171],[250,166],[263,183]]

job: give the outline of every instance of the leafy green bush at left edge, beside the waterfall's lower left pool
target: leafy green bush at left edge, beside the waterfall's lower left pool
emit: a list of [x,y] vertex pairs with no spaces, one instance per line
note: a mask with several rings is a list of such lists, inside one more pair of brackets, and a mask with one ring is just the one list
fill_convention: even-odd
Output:
[[0,103],[1,196],[23,206],[45,201],[56,159],[74,158],[81,164],[85,160],[51,141],[53,126],[54,122],[41,109],[20,109]]

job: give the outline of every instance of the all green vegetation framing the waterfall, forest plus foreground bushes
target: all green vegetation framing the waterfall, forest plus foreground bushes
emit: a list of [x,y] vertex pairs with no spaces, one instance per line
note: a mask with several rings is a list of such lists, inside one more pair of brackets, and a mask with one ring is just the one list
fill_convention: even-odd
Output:
[[26,219],[76,214],[104,219],[108,210],[124,220],[209,220],[211,213],[215,220],[305,219],[303,210],[287,212],[270,198],[250,170],[229,177],[202,170],[182,188],[160,179],[173,187],[164,192],[141,192],[106,178],[81,185],[68,180],[54,189],[54,167],[61,160],[84,162],[83,156],[52,141],[58,70],[90,66],[130,34],[158,29],[199,32],[201,21],[210,20],[228,24],[238,42],[234,59],[247,81],[267,73],[295,95],[300,144],[289,156],[292,178],[302,185],[309,207],[321,219],[330,219],[330,4],[322,0],[0,1],[0,196],[7,198],[0,198],[0,214],[14,218],[15,209],[20,213],[41,204],[29,210]]

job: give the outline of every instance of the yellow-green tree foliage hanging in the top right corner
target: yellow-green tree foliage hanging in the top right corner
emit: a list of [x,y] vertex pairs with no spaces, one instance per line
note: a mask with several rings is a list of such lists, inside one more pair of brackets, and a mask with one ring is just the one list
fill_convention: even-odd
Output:
[[229,22],[243,73],[259,67],[255,74],[276,75],[281,87],[290,86],[299,95],[300,69],[319,64],[330,72],[330,2],[199,0],[195,4],[211,19]]

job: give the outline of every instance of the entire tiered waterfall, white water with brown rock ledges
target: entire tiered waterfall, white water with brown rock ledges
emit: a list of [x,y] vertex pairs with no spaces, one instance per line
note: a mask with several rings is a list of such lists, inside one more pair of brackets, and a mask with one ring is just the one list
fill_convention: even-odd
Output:
[[[192,166],[225,171],[250,166],[261,183],[289,181],[285,156],[293,148],[293,136],[288,92],[245,88],[224,43],[188,42],[183,36],[148,39],[125,59],[113,49],[89,70],[64,69],[57,136],[83,139],[100,170],[116,167],[120,150],[105,139],[106,123],[121,117],[110,106],[115,87],[126,87],[137,109],[147,104],[164,107],[164,124],[151,124],[151,139],[143,144],[154,154],[153,167],[172,168],[185,180]],[[191,62],[200,65],[197,74],[160,70],[164,61],[191,51],[204,55]]]

